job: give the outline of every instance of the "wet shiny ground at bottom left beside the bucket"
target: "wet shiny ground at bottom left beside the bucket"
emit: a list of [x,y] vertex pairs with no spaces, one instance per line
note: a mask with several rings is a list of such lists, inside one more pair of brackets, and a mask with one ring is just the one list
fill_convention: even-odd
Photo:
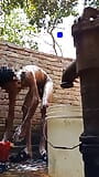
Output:
[[20,164],[8,164],[8,170],[0,177],[50,177],[47,165],[42,159],[28,160]]

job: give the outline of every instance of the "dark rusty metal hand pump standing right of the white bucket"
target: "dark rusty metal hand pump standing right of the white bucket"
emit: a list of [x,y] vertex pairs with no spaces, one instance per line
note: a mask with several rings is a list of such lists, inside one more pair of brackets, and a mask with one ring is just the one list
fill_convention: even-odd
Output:
[[79,150],[85,177],[99,177],[99,10],[86,8],[82,17],[74,23],[72,34],[76,46],[76,69],[70,66],[66,70],[62,82],[73,83],[78,73],[84,121]]

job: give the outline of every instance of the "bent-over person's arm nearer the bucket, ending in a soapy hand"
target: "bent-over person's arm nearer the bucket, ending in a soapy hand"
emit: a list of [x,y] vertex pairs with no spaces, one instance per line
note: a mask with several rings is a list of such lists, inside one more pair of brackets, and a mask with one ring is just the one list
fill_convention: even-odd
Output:
[[36,80],[33,73],[25,73],[24,79],[21,81],[22,85],[29,87],[29,92],[25,96],[25,101],[23,104],[23,118],[22,124],[16,127],[15,133],[13,135],[13,139],[16,140],[25,136],[28,127],[30,125],[31,118],[35,113],[35,110],[38,105],[38,92],[36,86]]

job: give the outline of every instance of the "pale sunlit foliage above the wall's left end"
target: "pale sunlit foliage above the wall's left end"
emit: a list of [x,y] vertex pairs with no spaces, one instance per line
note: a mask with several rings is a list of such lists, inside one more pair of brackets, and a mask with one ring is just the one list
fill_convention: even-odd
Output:
[[1,17],[0,40],[31,49],[37,49],[37,43],[33,40],[35,32],[35,28],[29,24],[28,19],[21,9],[12,10],[10,14]]

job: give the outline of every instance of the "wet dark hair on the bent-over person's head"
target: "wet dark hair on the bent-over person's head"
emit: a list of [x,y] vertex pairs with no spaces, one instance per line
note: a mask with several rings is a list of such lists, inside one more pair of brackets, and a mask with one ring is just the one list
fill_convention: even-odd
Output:
[[13,81],[15,73],[8,66],[0,67],[0,86],[4,86],[8,82]]

